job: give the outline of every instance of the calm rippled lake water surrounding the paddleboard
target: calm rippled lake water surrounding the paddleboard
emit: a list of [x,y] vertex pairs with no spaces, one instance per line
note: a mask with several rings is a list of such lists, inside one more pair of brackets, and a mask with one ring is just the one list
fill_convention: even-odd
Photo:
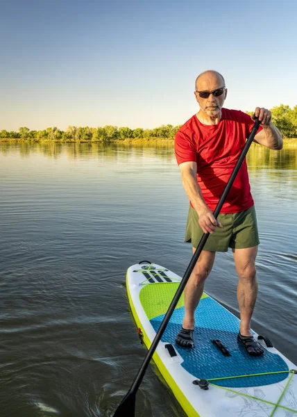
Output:
[[[248,153],[261,245],[253,329],[297,360],[297,149]],[[188,201],[173,145],[0,143],[0,415],[112,416],[146,354],[126,269],[183,275]],[[205,291],[238,316],[232,253]],[[158,372],[157,372],[158,373]],[[137,416],[185,416],[153,365]]]

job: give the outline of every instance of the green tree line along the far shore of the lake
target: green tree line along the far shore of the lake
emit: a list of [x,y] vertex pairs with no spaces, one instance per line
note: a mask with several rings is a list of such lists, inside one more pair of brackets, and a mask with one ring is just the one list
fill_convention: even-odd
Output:
[[[246,111],[249,115],[253,112]],[[290,108],[284,104],[271,108],[272,121],[280,129],[285,138],[297,138],[297,105]],[[18,132],[0,131],[0,139],[21,139],[21,140],[61,140],[61,141],[82,141],[94,140],[96,142],[111,142],[112,140],[158,140],[173,139],[180,126],[167,124],[154,129],[130,129],[129,127],[103,126],[103,127],[80,127],[68,126],[66,131],[58,127],[48,127],[42,131],[30,130],[28,127],[20,127]]]

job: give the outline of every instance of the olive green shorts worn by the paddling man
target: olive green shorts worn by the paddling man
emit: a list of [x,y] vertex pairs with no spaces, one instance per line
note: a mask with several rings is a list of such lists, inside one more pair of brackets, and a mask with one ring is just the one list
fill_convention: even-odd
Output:
[[[240,213],[219,214],[218,220],[223,227],[216,227],[214,233],[207,238],[203,250],[210,252],[228,252],[232,249],[244,249],[257,246],[260,243],[255,206]],[[203,231],[198,224],[196,210],[189,206],[185,242],[197,247]]]

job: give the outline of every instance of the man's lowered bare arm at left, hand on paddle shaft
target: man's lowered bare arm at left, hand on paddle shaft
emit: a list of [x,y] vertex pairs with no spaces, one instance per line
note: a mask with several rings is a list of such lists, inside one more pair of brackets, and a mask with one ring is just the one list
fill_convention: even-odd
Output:
[[203,199],[201,188],[198,186],[196,179],[197,164],[189,161],[180,163],[179,167],[182,174],[183,188],[198,213],[199,225],[204,233],[212,234],[217,226],[221,227],[221,223],[214,218],[212,211]]

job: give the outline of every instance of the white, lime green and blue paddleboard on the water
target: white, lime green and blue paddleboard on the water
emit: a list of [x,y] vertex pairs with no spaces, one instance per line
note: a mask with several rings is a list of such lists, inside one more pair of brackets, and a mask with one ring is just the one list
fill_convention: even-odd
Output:
[[[127,291],[139,336],[150,347],[181,277],[155,263],[128,268]],[[297,366],[254,332],[264,354],[237,342],[239,319],[206,293],[196,309],[194,349],[176,344],[180,297],[153,360],[189,417],[297,417]]]

